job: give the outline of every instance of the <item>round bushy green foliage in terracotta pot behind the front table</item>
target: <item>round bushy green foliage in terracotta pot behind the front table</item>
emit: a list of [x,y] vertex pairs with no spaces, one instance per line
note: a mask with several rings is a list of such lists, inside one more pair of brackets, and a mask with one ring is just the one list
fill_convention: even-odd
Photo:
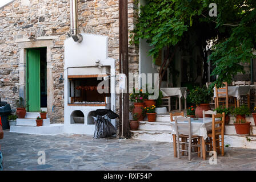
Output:
[[189,93],[189,98],[193,104],[208,104],[213,97],[213,90],[208,90],[204,85],[202,88],[196,86]]

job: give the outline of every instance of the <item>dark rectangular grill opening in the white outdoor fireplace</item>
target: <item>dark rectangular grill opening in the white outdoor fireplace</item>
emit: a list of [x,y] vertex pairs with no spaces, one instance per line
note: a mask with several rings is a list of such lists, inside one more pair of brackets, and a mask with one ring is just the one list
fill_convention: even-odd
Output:
[[[99,86],[104,81],[104,85]],[[105,90],[99,93],[98,88]],[[98,80],[97,77],[69,78],[69,104],[106,104],[106,97],[110,97],[110,80]]]

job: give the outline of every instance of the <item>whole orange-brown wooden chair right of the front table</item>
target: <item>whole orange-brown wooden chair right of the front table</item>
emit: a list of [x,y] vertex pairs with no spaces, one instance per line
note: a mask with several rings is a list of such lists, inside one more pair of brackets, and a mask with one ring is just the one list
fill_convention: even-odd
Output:
[[[211,133],[207,133],[208,142],[206,145],[209,147],[209,151],[216,151],[219,153],[221,150],[221,155],[224,155],[224,129],[225,129],[225,113],[222,114],[213,114],[212,128]],[[221,121],[215,121],[216,118],[221,118]],[[221,136],[221,138],[219,137]],[[221,144],[221,145],[220,145]]]

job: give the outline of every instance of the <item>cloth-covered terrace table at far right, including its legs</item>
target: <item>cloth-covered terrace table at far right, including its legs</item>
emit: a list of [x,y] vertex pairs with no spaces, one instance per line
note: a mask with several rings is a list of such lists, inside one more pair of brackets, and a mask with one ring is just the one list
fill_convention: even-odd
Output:
[[[247,96],[248,101],[248,107],[250,107],[250,89],[251,86],[228,86],[228,94],[229,96],[237,98],[237,106],[239,107],[239,100],[242,99],[241,96]],[[219,96],[222,96],[222,94],[219,94]],[[216,93],[214,88],[214,101],[215,101],[215,107],[216,107]]]

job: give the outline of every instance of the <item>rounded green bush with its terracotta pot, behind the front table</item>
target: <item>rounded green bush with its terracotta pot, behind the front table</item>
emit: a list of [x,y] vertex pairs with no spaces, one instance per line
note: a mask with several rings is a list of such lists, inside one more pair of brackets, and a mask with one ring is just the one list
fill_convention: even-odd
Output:
[[191,90],[189,93],[189,98],[192,103],[197,105],[197,108],[195,109],[195,115],[197,117],[202,118],[203,117],[203,110],[210,110],[210,104],[211,98],[213,97],[213,90],[209,90],[204,85],[202,88],[199,88],[198,86]]

